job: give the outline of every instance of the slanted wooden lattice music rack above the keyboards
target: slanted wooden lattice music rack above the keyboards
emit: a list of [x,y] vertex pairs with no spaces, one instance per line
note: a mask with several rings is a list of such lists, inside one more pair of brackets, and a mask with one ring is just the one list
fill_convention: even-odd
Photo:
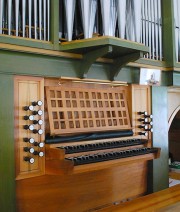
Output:
[[131,129],[123,90],[46,87],[50,134]]

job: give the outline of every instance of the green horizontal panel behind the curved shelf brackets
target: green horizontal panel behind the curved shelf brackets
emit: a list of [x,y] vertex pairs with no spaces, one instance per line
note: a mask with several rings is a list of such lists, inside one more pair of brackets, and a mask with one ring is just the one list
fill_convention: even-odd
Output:
[[[0,66],[0,73],[4,74],[80,77],[81,60],[0,50],[0,61],[3,61]],[[89,70],[88,78],[108,80],[111,69],[110,64],[95,63]],[[138,83],[139,68],[123,68],[117,80]]]

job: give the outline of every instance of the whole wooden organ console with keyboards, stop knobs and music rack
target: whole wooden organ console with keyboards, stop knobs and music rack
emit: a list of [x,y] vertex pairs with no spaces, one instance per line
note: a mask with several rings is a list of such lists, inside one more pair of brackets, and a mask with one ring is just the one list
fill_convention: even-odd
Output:
[[15,78],[17,211],[91,211],[146,194],[160,154],[150,88],[85,82]]

